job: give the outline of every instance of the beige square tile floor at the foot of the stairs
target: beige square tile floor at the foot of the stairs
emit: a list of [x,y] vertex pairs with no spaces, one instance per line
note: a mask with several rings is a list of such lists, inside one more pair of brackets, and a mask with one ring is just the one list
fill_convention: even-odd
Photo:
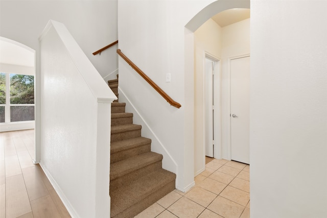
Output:
[[249,172],[247,164],[213,159],[191,190],[175,189],[135,217],[250,217]]

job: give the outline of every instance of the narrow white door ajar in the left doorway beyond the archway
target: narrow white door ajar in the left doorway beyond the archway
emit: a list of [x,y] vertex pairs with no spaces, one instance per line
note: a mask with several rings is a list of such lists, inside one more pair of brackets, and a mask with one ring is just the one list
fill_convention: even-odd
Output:
[[208,157],[214,157],[214,66],[214,61],[205,58],[205,156]]

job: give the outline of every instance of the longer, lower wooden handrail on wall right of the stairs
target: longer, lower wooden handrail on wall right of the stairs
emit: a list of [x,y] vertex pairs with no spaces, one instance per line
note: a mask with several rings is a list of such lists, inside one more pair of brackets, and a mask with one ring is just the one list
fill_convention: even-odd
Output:
[[129,60],[120,49],[117,50],[117,53],[133,68],[136,72],[143,77],[166,101],[176,108],[180,108],[181,105],[178,102],[175,102],[170,96],[162,90],[155,82],[153,82],[140,68],[138,68],[131,60]]

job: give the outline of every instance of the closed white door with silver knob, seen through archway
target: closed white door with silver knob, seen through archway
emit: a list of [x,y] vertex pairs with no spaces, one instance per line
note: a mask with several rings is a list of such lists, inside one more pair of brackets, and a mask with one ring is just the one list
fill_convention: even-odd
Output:
[[250,57],[230,61],[231,159],[250,163]]

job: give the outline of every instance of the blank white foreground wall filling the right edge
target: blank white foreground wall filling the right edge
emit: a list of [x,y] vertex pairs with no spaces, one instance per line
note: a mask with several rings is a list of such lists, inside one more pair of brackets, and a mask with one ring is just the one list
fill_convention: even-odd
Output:
[[251,1],[251,217],[327,217],[327,2]]

